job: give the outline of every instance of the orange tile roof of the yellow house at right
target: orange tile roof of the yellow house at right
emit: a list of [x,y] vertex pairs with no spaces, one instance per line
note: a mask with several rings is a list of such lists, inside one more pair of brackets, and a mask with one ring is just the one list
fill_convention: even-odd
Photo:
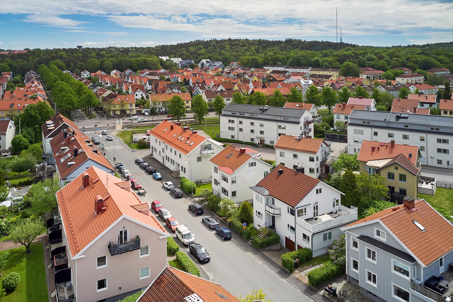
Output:
[[[373,146],[375,147],[374,151],[372,149]],[[412,153],[411,157],[409,157],[409,153]],[[371,140],[364,140],[362,141],[357,160],[368,162],[370,160],[376,159],[394,158],[397,155],[404,154],[404,156],[409,159],[409,161],[414,166],[416,166],[418,153],[418,146],[395,144],[394,147],[391,147],[390,143],[380,143]]]

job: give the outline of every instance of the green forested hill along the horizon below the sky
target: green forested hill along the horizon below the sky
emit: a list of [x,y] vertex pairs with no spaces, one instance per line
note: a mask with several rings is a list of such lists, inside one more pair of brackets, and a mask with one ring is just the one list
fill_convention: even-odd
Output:
[[201,59],[210,59],[222,61],[226,65],[236,61],[245,67],[286,64],[340,68],[344,62],[353,62],[359,67],[374,67],[382,71],[395,67],[409,67],[414,71],[431,67],[453,70],[453,42],[373,47],[300,39],[212,39],[145,48],[34,49],[23,54],[0,55],[0,72],[24,74],[27,70],[36,70],[39,64],[50,61],[54,61],[60,69],[72,72],[84,69],[90,72],[98,69],[109,72],[113,68],[136,71],[174,67],[172,62],[164,62],[158,56],[193,59],[196,63]]

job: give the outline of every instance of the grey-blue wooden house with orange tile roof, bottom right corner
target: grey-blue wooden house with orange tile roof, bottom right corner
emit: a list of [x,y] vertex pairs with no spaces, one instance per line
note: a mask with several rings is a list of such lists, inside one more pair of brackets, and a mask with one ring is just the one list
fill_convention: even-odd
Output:
[[[451,225],[423,199],[341,229],[350,283],[375,302],[444,302],[453,294]],[[448,236],[448,235],[447,235]],[[451,286],[451,288],[450,288]]]

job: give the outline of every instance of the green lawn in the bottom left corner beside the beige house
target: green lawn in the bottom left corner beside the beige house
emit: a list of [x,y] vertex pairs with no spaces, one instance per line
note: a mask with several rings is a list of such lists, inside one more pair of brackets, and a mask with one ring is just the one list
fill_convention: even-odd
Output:
[[20,282],[14,291],[2,297],[2,302],[48,302],[43,244],[32,244],[30,248],[30,254],[26,253],[24,246],[8,249],[10,256],[2,276],[16,272],[20,274]]

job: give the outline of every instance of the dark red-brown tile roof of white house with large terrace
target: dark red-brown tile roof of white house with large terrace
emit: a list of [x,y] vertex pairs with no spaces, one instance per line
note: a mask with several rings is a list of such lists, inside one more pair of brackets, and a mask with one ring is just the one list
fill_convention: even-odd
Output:
[[[279,174],[279,169],[283,170]],[[309,177],[301,172],[278,165],[266,175],[257,187],[264,187],[269,194],[290,206],[297,206],[299,202],[307,196],[320,182],[319,179]],[[297,188],[297,190],[294,190]]]

